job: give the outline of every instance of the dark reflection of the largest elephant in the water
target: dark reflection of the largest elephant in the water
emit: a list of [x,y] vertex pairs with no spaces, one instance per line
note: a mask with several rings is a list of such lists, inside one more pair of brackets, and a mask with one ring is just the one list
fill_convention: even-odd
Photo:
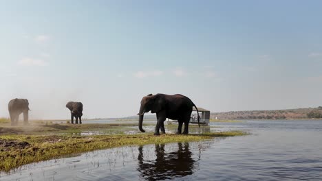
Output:
[[155,144],[155,160],[144,160],[143,147],[139,147],[138,171],[145,180],[164,180],[188,176],[193,173],[195,160],[189,143],[178,143],[178,151],[165,153],[164,144]]

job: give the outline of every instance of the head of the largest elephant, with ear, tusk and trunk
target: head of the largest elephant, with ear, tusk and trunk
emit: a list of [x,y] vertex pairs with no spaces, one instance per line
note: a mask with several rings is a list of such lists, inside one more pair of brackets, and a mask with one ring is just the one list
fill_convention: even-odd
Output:
[[157,113],[164,107],[164,101],[160,99],[158,95],[149,94],[144,96],[141,100],[139,115],[139,129],[141,132],[145,132],[142,128],[144,113],[149,112]]

